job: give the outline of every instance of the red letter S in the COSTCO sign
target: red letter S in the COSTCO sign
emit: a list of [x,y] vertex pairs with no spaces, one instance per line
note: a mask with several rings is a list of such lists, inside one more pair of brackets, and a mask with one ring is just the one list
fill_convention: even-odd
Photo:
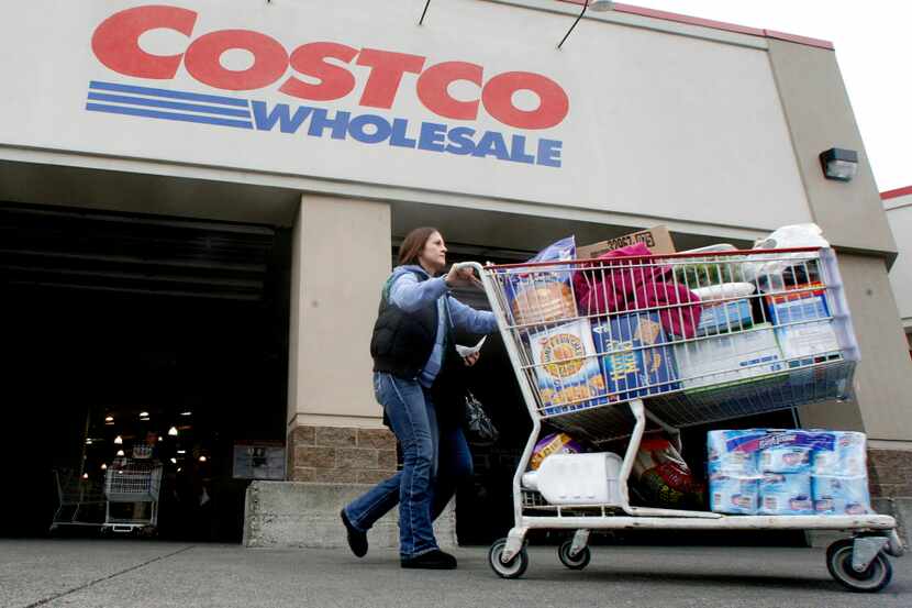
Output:
[[355,77],[342,66],[326,63],[333,57],[346,64],[357,56],[358,49],[333,42],[303,44],[291,53],[291,67],[303,75],[319,78],[319,85],[310,85],[293,76],[279,89],[286,95],[314,101],[341,99],[355,88]]

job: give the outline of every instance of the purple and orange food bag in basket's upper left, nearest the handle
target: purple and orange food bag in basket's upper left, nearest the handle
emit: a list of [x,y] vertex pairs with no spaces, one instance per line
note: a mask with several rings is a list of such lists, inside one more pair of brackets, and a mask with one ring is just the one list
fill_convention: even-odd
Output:
[[[568,236],[548,245],[529,262],[566,262],[574,257],[575,239]],[[515,323],[547,323],[576,317],[577,303],[570,288],[570,267],[564,265],[508,274],[507,299]]]

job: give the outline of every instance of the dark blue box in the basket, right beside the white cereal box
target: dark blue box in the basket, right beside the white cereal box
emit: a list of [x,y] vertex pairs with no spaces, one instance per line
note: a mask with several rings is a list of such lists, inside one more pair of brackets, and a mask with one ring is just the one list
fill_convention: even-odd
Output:
[[616,314],[592,321],[592,340],[608,385],[621,400],[677,390],[675,350],[657,312]]

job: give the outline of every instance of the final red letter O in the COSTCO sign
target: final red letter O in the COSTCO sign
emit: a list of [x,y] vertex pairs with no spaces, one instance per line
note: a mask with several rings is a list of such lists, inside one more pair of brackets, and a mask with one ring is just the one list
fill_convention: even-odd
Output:
[[[538,96],[538,108],[526,111],[513,104],[513,93],[522,90]],[[549,129],[560,124],[570,111],[570,100],[560,85],[530,71],[505,71],[494,76],[485,85],[481,101],[489,114],[516,129]]]

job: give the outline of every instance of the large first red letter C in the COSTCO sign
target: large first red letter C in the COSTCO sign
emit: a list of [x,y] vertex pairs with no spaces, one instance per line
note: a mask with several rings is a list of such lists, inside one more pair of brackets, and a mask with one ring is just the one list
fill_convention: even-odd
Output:
[[126,9],[96,27],[92,51],[99,62],[119,74],[167,80],[177,74],[183,54],[152,55],[140,48],[140,36],[159,27],[189,36],[196,22],[196,12],[176,7]]

